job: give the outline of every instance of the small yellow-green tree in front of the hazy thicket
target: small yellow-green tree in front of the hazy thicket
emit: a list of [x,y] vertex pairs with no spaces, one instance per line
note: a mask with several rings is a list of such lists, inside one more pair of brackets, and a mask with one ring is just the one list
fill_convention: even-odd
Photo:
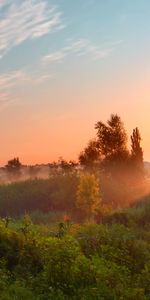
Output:
[[100,209],[99,183],[95,175],[82,174],[77,188],[76,206],[90,220]]

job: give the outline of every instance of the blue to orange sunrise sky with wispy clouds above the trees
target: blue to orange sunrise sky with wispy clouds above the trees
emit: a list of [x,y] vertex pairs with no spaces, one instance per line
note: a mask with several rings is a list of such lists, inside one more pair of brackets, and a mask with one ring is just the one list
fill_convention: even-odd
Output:
[[0,0],[0,165],[76,160],[111,113],[150,161],[149,53],[149,0]]

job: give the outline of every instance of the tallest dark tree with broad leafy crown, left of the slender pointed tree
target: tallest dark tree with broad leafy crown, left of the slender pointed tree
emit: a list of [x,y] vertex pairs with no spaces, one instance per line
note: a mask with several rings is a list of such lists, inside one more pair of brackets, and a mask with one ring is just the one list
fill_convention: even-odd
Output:
[[97,122],[95,128],[99,151],[103,157],[102,168],[117,180],[126,180],[130,154],[121,118],[117,114],[112,114],[106,124]]

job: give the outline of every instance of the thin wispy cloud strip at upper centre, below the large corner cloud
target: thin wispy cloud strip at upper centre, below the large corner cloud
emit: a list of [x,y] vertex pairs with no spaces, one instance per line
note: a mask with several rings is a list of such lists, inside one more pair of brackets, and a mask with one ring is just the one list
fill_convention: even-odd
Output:
[[114,42],[114,44],[107,47],[96,46],[86,39],[79,39],[76,41],[70,41],[65,45],[65,47],[61,48],[59,51],[51,52],[45,55],[42,58],[42,62],[51,63],[51,62],[60,62],[65,59],[70,54],[74,54],[77,56],[85,56],[88,55],[92,60],[100,60],[105,57],[108,57],[114,48],[120,44],[122,41]]

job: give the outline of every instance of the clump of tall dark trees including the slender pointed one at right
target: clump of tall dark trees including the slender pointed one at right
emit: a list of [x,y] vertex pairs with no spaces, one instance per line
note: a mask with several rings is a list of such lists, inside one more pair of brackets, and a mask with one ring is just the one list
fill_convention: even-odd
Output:
[[80,164],[88,169],[100,167],[118,179],[129,173],[141,178],[144,174],[144,162],[138,127],[133,129],[130,137],[131,150],[128,149],[124,124],[117,114],[112,114],[106,124],[97,122],[95,129],[96,138],[90,140],[80,153]]

